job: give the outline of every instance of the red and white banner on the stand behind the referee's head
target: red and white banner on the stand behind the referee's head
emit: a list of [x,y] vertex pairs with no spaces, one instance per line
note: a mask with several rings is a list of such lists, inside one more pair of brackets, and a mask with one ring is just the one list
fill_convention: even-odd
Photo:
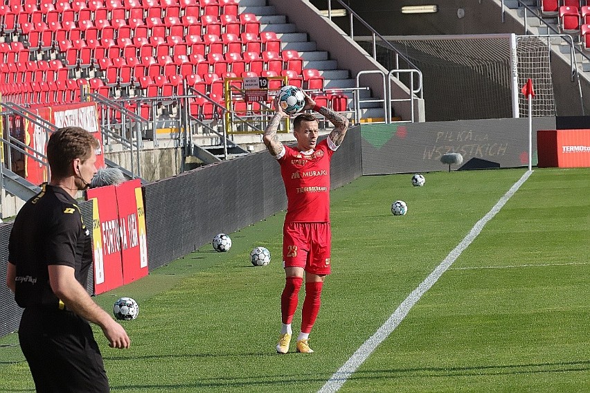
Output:
[[[102,154],[102,134],[100,134],[96,102],[40,107],[31,109],[31,111],[39,116],[39,118],[51,122],[57,128],[82,127],[89,131],[100,143],[98,149],[96,149],[96,167],[105,166],[105,156]],[[35,160],[35,158],[25,156],[24,178],[37,185],[48,181],[49,176],[46,166],[39,163],[39,160],[42,160],[42,158],[38,153],[46,154],[46,145],[49,138],[49,132],[41,124],[42,122],[33,122],[28,119],[24,119],[22,122],[24,131],[23,142],[32,149],[28,153],[37,158]]]

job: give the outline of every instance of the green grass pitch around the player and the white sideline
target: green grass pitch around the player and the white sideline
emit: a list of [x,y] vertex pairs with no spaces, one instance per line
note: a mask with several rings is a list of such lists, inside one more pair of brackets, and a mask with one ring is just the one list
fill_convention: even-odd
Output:
[[[311,355],[275,352],[284,212],[96,297],[129,350],[95,336],[113,392],[317,392],[524,174],[364,176],[332,192],[332,275]],[[408,205],[403,217],[391,203]],[[224,232],[220,227],[219,232]],[[249,253],[265,246],[269,266]],[[340,392],[582,392],[590,386],[590,169],[535,170]],[[3,280],[3,277],[2,277]],[[294,331],[301,323],[301,304]],[[16,334],[0,338],[0,392],[33,392]],[[66,370],[64,370],[66,378]]]

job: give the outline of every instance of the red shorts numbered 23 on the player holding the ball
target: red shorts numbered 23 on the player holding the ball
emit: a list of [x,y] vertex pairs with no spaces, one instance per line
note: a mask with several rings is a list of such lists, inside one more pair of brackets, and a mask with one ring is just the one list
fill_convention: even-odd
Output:
[[313,274],[330,274],[330,223],[285,223],[283,267],[300,267]]

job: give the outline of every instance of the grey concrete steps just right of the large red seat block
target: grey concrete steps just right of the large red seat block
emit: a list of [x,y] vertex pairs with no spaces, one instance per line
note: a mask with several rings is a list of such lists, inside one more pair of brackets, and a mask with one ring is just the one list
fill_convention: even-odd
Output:
[[[315,68],[324,77],[324,89],[354,88],[356,81],[350,71],[338,68],[336,60],[330,59],[330,53],[319,51],[316,43],[310,41],[307,33],[298,30],[295,24],[289,23],[286,15],[280,15],[274,6],[267,6],[265,0],[240,0],[240,12],[252,13],[260,21],[260,30],[274,31],[281,40],[281,49],[298,51],[303,58],[303,68]],[[348,95],[348,108],[353,109],[352,91]],[[362,102],[372,100],[370,91],[360,90],[361,119],[383,116],[382,103]]]

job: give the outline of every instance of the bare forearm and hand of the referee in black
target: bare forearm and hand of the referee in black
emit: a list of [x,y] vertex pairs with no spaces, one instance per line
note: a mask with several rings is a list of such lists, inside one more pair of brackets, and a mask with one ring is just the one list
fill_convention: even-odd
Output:
[[127,332],[98,304],[96,304],[80,282],[75,279],[74,268],[65,265],[48,265],[51,290],[68,309],[102,329],[109,346],[129,348]]

